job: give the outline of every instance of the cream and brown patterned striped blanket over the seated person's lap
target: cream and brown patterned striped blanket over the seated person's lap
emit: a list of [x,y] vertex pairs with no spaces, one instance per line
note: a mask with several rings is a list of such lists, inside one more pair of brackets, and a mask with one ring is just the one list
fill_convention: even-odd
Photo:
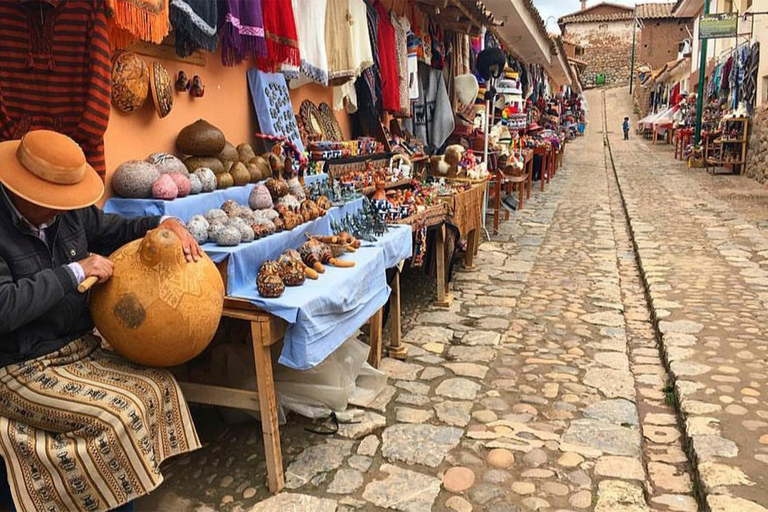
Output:
[[200,447],[170,373],[88,335],[0,369],[0,455],[19,511],[99,511],[155,489],[160,464]]

